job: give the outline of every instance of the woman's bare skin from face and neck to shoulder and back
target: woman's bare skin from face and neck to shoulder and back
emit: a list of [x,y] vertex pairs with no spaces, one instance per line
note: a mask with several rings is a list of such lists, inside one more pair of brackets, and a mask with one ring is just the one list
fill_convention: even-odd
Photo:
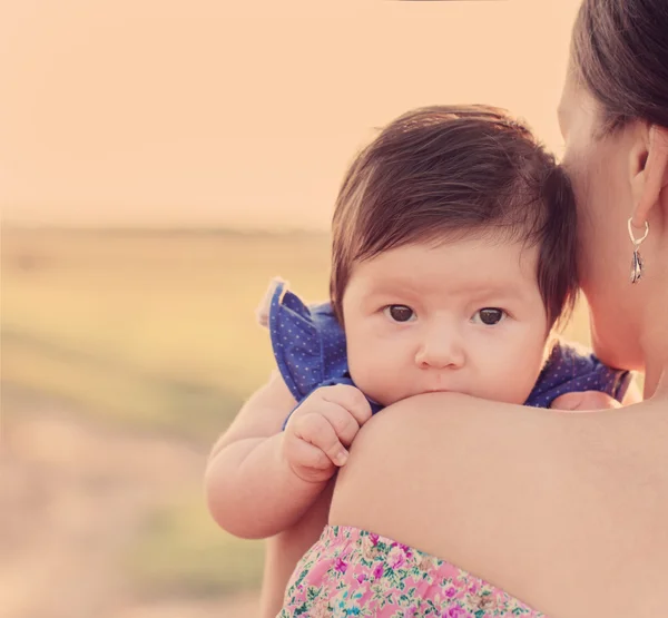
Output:
[[[570,76],[559,119],[593,347],[645,371],[645,401],[577,413],[401,401],[362,428],[330,522],[439,556],[550,618],[656,618],[668,611],[668,129],[603,136],[600,115]],[[636,284],[629,217],[638,237],[649,224]]]

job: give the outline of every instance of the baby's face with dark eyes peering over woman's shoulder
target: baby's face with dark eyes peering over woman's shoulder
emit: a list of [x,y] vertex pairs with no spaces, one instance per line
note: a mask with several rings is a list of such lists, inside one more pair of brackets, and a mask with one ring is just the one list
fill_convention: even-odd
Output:
[[356,264],[343,297],[355,384],[383,405],[433,391],[523,403],[548,335],[537,255],[468,238]]

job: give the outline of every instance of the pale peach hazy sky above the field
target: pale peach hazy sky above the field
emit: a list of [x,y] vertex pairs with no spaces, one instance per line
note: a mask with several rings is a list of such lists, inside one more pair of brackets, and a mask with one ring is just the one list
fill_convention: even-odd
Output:
[[547,145],[578,0],[0,0],[14,225],[325,229],[375,127],[505,107]]

